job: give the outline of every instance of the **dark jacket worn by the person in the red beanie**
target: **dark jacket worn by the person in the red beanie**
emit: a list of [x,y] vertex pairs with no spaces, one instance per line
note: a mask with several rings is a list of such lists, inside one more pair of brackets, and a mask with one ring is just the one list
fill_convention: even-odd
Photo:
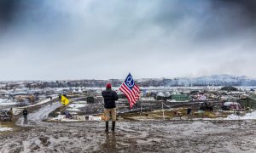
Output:
[[113,91],[110,88],[107,88],[106,90],[102,91],[102,97],[104,99],[104,107],[106,109],[112,109],[116,107],[115,100],[118,100],[119,97],[115,91]]

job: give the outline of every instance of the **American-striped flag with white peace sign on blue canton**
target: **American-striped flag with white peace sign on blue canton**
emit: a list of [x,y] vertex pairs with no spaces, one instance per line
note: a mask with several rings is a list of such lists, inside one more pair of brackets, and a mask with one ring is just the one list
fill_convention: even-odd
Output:
[[130,108],[132,108],[140,97],[140,88],[134,82],[130,73],[126,77],[125,82],[122,83],[119,90],[125,94],[130,103]]

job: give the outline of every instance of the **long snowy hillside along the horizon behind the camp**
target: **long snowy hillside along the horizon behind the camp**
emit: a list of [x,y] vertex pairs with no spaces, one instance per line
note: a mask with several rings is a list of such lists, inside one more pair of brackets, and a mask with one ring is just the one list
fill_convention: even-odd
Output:
[[[245,76],[213,75],[206,77],[174,77],[174,78],[134,78],[140,87],[173,87],[173,86],[256,86],[256,79]],[[103,88],[107,82],[113,87],[119,87],[123,79],[110,80],[62,80],[62,81],[24,81],[0,82],[2,91],[12,88],[73,88],[93,87]],[[1,89],[1,88],[0,88]]]

